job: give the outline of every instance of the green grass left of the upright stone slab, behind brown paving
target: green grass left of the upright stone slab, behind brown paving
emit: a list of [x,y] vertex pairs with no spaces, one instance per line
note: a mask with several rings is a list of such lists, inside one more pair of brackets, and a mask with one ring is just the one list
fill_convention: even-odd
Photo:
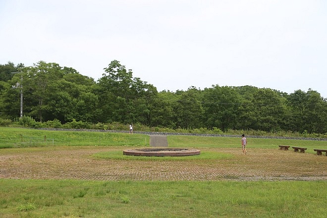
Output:
[[0,127],[0,148],[66,145],[149,146],[149,140],[149,136],[141,134]]

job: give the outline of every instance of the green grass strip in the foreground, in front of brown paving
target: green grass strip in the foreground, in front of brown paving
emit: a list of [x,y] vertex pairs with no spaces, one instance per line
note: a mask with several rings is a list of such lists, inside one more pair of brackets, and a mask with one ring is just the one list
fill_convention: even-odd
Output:
[[326,185],[0,179],[0,217],[325,218]]

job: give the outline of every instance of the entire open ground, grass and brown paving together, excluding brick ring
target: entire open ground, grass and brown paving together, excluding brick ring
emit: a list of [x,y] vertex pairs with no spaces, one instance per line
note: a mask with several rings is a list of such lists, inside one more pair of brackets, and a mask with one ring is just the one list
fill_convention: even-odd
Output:
[[[13,143],[20,134],[69,143]],[[327,157],[313,151],[326,141],[248,138],[241,155],[239,138],[167,139],[201,155],[123,156],[148,146],[138,134],[0,128],[0,140],[12,140],[0,149],[0,217],[327,217]],[[308,150],[279,151],[280,144]]]

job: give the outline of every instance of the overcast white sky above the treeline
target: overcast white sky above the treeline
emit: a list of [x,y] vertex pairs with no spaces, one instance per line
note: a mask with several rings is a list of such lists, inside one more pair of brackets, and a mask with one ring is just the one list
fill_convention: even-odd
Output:
[[251,85],[327,98],[326,0],[0,0],[0,64],[102,77],[118,60],[162,90]]

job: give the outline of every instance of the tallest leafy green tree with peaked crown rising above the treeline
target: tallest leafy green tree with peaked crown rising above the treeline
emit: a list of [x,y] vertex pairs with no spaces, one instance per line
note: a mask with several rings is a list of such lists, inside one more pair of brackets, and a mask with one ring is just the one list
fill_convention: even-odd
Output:
[[113,60],[99,79],[97,94],[102,101],[103,120],[151,124],[153,98],[157,89],[140,78],[133,78],[119,61]]

